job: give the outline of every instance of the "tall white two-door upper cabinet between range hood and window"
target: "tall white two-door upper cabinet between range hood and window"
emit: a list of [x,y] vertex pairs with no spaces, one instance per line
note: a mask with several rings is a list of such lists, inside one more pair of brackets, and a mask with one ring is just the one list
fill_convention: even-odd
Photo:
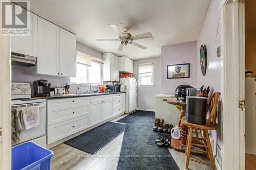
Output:
[[36,74],[76,77],[76,36],[38,16]]

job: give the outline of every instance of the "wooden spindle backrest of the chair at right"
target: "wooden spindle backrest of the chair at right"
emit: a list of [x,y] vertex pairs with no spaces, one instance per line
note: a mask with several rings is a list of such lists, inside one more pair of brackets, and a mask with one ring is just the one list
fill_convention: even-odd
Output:
[[219,103],[219,96],[220,96],[219,92],[214,92],[214,94],[212,94],[212,96],[210,98],[209,104],[206,109],[206,113],[208,113],[208,111],[210,111],[210,115],[209,115],[206,125],[205,125],[207,127],[215,126],[217,124],[216,118],[217,118],[217,107],[218,107],[218,103]]

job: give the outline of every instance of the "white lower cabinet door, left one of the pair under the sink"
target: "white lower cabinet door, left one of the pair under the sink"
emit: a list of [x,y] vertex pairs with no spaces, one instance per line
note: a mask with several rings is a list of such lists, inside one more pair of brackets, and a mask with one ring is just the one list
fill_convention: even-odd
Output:
[[102,122],[101,110],[101,102],[91,103],[91,126]]

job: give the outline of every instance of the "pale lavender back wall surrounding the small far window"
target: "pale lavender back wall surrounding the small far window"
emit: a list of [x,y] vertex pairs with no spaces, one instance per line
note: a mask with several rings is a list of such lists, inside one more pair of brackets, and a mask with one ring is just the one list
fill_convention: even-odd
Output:
[[138,66],[140,63],[148,63],[152,62],[154,64],[154,79],[155,85],[154,86],[146,86],[138,87],[138,96],[137,96],[137,108],[140,109],[156,109],[156,102],[155,102],[155,95],[161,93],[161,58],[154,57],[154,58],[147,58],[141,60],[134,61],[134,74],[133,76],[136,77],[138,80]]

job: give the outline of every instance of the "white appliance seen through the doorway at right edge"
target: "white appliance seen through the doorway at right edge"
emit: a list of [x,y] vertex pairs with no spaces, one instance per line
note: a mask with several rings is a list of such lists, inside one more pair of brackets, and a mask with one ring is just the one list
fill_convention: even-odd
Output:
[[256,78],[245,79],[245,153],[256,155]]

